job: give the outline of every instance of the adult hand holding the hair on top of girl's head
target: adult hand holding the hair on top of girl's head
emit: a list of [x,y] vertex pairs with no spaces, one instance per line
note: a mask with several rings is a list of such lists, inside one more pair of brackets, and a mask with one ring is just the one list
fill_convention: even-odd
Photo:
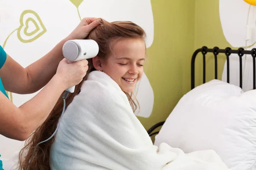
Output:
[[101,23],[100,18],[83,18],[79,25],[67,36],[67,40],[84,39],[88,36],[90,31],[99,26]]

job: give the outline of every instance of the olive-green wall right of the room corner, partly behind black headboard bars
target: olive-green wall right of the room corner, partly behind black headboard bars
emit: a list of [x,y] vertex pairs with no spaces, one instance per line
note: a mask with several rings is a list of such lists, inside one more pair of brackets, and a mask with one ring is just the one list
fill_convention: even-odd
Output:
[[[208,48],[230,47],[233,48],[225,39],[219,16],[219,0],[196,0],[195,1],[195,50],[207,46]],[[221,79],[226,56],[218,55],[218,79]],[[214,79],[214,56],[206,55],[206,81]],[[202,55],[198,54],[195,62],[195,85],[203,82],[203,60]]]

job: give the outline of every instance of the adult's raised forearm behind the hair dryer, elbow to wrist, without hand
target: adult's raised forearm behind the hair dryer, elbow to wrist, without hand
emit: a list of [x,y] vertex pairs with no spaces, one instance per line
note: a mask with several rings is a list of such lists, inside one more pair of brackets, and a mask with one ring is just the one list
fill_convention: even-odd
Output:
[[54,76],[63,59],[62,47],[67,40],[59,42],[48,54],[26,68],[28,85],[25,93],[33,93],[44,87]]

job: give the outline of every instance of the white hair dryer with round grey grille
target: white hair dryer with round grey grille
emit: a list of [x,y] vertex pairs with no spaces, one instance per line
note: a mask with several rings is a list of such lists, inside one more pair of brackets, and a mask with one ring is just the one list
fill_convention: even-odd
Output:
[[[93,58],[98,52],[99,45],[94,40],[68,40],[62,48],[62,54],[68,62]],[[73,93],[75,86],[66,89],[66,91]]]

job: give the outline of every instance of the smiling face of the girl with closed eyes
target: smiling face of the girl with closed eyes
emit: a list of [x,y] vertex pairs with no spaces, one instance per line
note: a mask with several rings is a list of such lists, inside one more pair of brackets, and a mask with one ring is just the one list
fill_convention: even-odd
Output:
[[[124,92],[132,92],[143,75],[145,42],[140,39],[122,39],[115,43],[113,51],[102,61],[103,72],[108,74]],[[99,70],[99,68],[96,68]]]

